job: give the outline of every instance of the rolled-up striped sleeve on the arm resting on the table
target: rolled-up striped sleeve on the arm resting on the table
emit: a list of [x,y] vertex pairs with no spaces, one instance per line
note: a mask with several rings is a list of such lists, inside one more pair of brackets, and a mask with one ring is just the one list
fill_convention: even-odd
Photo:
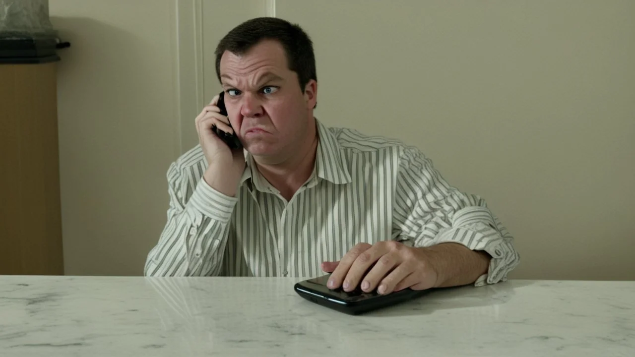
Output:
[[451,187],[415,147],[404,149],[395,181],[395,238],[423,247],[459,243],[491,255],[488,272],[476,286],[507,280],[519,263],[514,238],[485,200]]

